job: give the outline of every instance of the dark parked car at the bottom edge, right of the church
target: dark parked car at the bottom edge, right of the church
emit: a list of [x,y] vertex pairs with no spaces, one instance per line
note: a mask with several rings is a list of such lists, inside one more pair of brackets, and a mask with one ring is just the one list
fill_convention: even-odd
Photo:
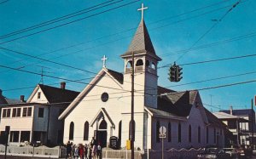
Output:
[[198,159],[229,159],[230,154],[222,149],[207,148],[204,152],[197,155]]

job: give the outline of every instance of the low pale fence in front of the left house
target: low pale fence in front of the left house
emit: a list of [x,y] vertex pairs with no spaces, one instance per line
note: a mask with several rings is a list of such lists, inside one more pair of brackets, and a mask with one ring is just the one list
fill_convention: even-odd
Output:
[[[5,145],[0,145],[0,155],[4,155]],[[56,146],[49,148],[47,146],[33,147],[31,145],[25,146],[15,146],[9,145],[7,147],[8,156],[39,156],[39,157],[50,157],[50,158],[59,158],[66,155],[66,148]]]

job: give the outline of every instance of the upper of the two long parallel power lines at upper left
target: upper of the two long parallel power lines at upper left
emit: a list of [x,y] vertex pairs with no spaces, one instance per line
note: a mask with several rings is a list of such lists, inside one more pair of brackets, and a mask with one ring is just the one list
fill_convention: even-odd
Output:
[[[114,1],[114,0],[109,0],[109,1],[107,1],[107,2],[105,2],[105,3],[100,3],[100,4],[97,4],[97,5],[92,6],[92,7],[90,7],[90,8],[79,10],[79,11],[74,12],[74,13],[72,13],[72,14],[63,15],[63,16],[58,17],[58,18],[55,18],[55,19],[53,19],[53,20],[44,21],[44,22],[42,22],[42,23],[40,23],[40,24],[38,24],[38,25],[35,25],[35,26],[29,26],[29,27],[27,27],[27,28],[20,29],[20,30],[18,30],[18,31],[10,32],[10,33],[8,33],[8,34],[5,34],[5,35],[3,35],[3,36],[0,36],[0,39],[6,38],[6,37],[13,37],[13,36],[15,36],[15,35],[17,35],[17,34],[20,34],[20,33],[26,32],[26,31],[32,31],[32,30],[34,30],[34,29],[37,29],[37,28],[40,28],[40,27],[43,27],[43,26],[48,26],[48,25],[54,24],[54,23],[56,23],[56,22],[59,22],[59,21],[61,21],[61,20],[67,20],[67,19],[70,19],[70,18],[72,18],[72,17],[74,17],[74,16],[78,16],[78,15],[80,15],[80,14],[86,14],[86,13],[89,13],[89,12],[94,11],[94,10],[96,10],[96,9],[102,9],[103,7],[107,7],[107,6],[109,6],[109,5],[112,5],[112,4],[114,4],[114,3],[119,3],[119,2],[124,1],[124,0],[119,0],[119,1],[114,2],[114,3],[110,3],[110,2],[112,2],[112,1]],[[103,4],[106,4],[106,3],[107,3],[107,5],[103,5]],[[110,3],[110,4],[108,4],[108,3]],[[103,5],[103,6],[102,6],[102,5]],[[98,6],[102,6],[102,7],[98,7]],[[90,10],[90,9],[91,9],[91,10]],[[84,11],[86,11],[86,12],[84,12]]]

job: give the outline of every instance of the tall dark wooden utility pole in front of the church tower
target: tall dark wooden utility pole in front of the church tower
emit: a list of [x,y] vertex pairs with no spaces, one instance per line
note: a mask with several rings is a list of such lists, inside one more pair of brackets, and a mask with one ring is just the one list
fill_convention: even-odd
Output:
[[134,52],[131,69],[131,159],[134,159]]

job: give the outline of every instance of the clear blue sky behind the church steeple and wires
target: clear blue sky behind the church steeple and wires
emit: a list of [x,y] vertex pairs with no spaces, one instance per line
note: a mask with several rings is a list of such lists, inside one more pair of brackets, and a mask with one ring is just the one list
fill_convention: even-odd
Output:
[[[9,0],[0,4],[0,36],[19,31],[20,29],[38,25],[47,20],[53,20],[66,14],[87,9],[107,1],[88,0]],[[124,54],[131,43],[131,38],[141,20],[141,13],[137,11],[144,3],[148,9],[145,11],[144,20],[148,27],[156,54],[162,61],[159,66],[177,65],[191,62],[217,60],[236,57],[247,54],[255,54],[256,43],[256,2],[253,0],[147,0],[147,1],[112,1],[114,3],[102,9],[95,9],[87,14],[80,14],[68,20],[44,26],[32,31],[27,31],[13,37],[0,39],[0,48],[9,48],[21,53],[38,56],[61,64],[73,65],[86,71],[97,72],[102,69],[102,56],[108,57],[107,67],[114,71],[122,72],[124,63],[120,54]],[[125,5],[131,3],[129,5]],[[119,5],[125,5],[119,9],[113,9]],[[105,12],[105,10],[113,9]],[[194,11],[193,11],[194,10]],[[105,12],[102,14],[97,14]],[[9,40],[26,36],[37,31],[42,31],[53,26],[58,26],[73,20],[78,20],[93,14],[84,20],[79,20],[67,26],[61,26],[53,30],[44,31],[30,37]],[[223,19],[221,19],[224,17]],[[221,20],[220,20],[221,19]],[[220,21],[217,21],[220,20]],[[216,24],[218,23],[218,24]],[[213,26],[213,27],[212,27]],[[210,29],[212,27],[212,29]],[[247,36],[241,38],[241,36]],[[234,39],[224,43],[226,40]],[[200,40],[199,40],[200,39]],[[218,43],[212,45],[208,44]],[[206,46],[201,49],[189,49]],[[73,46],[73,47],[70,47]],[[63,49],[61,49],[63,48]],[[60,51],[55,51],[61,49]],[[186,54],[177,54],[189,49]],[[182,52],[184,53],[184,52]],[[42,55],[43,54],[43,55]],[[182,58],[180,58],[182,56]],[[177,91],[208,88],[235,82],[255,80],[256,73],[244,76],[224,78],[210,82],[200,82],[184,86],[177,86],[187,82],[227,77],[237,74],[256,71],[255,56],[225,60],[198,65],[183,65],[183,79],[181,82],[170,82],[168,68],[159,69],[159,85]],[[40,73],[44,66],[44,74],[55,77],[63,77],[71,80],[94,77],[94,74],[86,73],[61,65],[54,65],[41,60],[27,58],[21,54],[0,49],[0,64],[14,68],[22,67],[22,70]],[[32,88],[40,82],[38,75],[0,68],[0,88],[3,95],[19,99],[24,94],[26,99],[32,93]],[[61,82],[63,80],[44,77],[44,84]],[[83,82],[90,82],[90,79]],[[54,85],[59,87],[59,84]],[[256,87],[255,82],[236,85],[226,88],[202,90],[201,98],[208,110],[218,111],[229,109],[233,105],[235,109],[250,108]],[[84,84],[68,82],[67,88],[81,91]],[[10,91],[9,89],[15,88]],[[212,100],[211,100],[212,97]],[[213,106],[209,106],[209,105]],[[219,106],[218,106],[219,105]]]

